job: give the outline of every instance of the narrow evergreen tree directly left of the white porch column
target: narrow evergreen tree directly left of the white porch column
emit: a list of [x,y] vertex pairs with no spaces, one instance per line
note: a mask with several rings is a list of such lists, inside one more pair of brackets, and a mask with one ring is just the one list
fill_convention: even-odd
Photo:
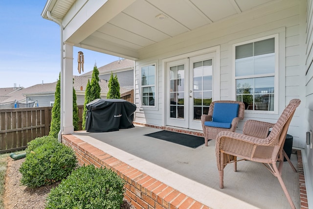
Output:
[[61,126],[61,73],[55,87],[54,104],[51,111],[51,125],[49,136],[58,137]]

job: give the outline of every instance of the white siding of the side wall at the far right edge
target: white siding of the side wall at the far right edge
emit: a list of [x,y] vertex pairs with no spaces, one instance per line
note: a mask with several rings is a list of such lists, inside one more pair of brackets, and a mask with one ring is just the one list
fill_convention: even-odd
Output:
[[[306,28],[306,37],[303,39],[306,42],[306,77],[305,77],[305,96],[306,96],[306,119],[308,120],[309,127],[307,131],[313,130],[313,1],[308,0],[308,16],[307,16],[307,28]],[[311,140],[312,143],[312,140]],[[312,146],[312,145],[311,145]],[[305,159],[308,161],[307,163],[304,162],[304,165],[307,165],[307,172],[309,175],[312,177],[313,173],[313,149],[311,149],[310,145],[305,145],[305,154],[306,157]],[[313,146],[312,146],[313,147]],[[310,184],[311,188],[313,188],[313,182],[307,182],[306,183]],[[308,187],[308,186],[307,186]],[[312,189],[311,189],[312,191]],[[311,194],[312,196],[312,194]],[[310,195],[308,194],[308,197]],[[312,198],[311,200],[308,201],[313,201]],[[310,204],[310,203],[309,203]],[[313,202],[311,203],[311,205]]]

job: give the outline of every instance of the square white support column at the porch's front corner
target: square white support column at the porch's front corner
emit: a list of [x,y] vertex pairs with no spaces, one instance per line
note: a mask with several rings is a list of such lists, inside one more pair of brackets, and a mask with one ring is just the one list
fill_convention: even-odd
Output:
[[[64,44],[64,70],[63,70],[63,107],[64,126],[63,134],[74,133],[73,126],[73,45]],[[62,81],[62,79],[61,79]]]

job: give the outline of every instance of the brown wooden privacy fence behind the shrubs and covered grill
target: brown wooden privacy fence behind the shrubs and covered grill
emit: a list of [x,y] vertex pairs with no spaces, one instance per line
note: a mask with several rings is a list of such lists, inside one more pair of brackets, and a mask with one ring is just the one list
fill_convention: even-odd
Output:
[[[121,95],[134,102],[134,90]],[[0,153],[25,149],[27,143],[49,134],[52,107],[0,109]],[[82,130],[83,105],[78,105],[78,130]]]

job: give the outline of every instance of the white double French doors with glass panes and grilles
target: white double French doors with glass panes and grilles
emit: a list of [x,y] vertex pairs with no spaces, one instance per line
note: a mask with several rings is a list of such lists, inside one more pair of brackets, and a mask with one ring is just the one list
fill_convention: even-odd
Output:
[[166,125],[201,130],[213,96],[215,53],[166,63]]

